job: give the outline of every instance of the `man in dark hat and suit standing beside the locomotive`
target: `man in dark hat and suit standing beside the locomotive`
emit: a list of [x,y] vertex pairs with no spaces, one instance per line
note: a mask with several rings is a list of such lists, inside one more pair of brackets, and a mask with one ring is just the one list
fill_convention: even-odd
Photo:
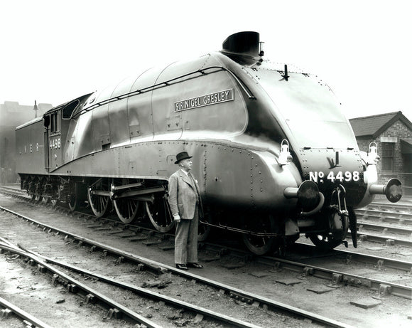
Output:
[[169,204],[176,223],[175,265],[180,270],[203,268],[197,263],[197,228],[202,204],[197,181],[190,174],[193,162],[188,152],[176,155],[179,169],[169,178]]

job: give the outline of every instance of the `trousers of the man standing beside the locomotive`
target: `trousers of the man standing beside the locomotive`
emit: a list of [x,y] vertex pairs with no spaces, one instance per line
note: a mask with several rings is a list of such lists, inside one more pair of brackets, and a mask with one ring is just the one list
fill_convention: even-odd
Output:
[[175,264],[197,263],[198,206],[192,220],[182,218],[176,223]]

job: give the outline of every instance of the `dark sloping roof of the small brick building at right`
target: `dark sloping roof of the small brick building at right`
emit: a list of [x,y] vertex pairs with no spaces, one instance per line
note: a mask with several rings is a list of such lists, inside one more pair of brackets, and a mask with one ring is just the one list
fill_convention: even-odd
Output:
[[412,129],[412,122],[405,115],[399,112],[389,112],[381,115],[366,117],[356,117],[349,120],[355,137],[372,136],[378,137],[379,134],[388,129],[394,122],[400,120],[408,129]]

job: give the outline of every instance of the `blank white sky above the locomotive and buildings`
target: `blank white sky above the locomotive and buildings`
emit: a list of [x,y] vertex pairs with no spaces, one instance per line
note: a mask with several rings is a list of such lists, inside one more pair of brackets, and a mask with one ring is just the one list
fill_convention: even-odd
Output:
[[412,120],[410,1],[0,0],[0,103],[60,105],[257,31],[265,58],[325,81],[348,118]]

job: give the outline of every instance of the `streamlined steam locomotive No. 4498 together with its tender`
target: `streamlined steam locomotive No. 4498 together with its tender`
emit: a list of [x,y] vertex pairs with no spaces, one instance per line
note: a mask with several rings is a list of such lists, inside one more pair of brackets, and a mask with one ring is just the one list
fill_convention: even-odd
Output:
[[16,128],[21,189],[33,199],[114,207],[124,223],[173,227],[167,202],[175,154],[193,156],[207,215],[263,254],[305,234],[315,245],[356,247],[354,208],[378,185],[376,145],[359,152],[330,88],[264,60],[259,33],[229,36],[222,51],[152,68],[54,107]]

